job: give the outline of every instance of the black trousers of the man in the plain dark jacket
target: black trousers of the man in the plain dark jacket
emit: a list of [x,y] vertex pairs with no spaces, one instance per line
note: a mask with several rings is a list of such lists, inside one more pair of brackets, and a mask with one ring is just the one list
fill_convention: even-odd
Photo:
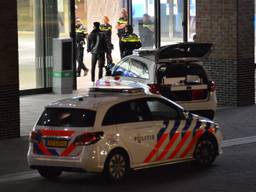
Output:
[[98,54],[92,53],[92,69],[91,69],[92,82],[95,81],[95,68],[96,68],[97,62],[98,62],[98,67],[99,67],[98,77],[100,79],[100,78],[102,78],[103,67],[105,65],[105,55],[104,55],[104,53],[98,53]]

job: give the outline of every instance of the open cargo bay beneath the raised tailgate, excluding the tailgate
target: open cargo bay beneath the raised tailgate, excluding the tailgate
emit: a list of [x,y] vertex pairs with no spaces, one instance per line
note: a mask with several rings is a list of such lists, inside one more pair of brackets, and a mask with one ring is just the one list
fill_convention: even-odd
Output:
[[158,71],[160,93],[173,101],[208,99],[208,79],[202,66],[192,63],[162,65]]

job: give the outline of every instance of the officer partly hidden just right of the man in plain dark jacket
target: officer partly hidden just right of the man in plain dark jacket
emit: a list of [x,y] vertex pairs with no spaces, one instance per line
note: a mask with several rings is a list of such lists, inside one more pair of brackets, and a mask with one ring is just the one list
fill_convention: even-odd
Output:
[[113,67],[113,59],[112,59],[112,50],[114,48],[112,44],[112,25],[109,24],[109,18],[107,16],[103,17],[103,24],[100,25],[100,31],[105,34],[107,40],[107,66],[106,66],[106,75],[110,75],[110,69]]

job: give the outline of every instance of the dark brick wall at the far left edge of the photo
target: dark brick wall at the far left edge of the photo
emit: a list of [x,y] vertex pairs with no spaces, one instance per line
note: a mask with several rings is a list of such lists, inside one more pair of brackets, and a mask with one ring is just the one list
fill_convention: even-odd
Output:
[[0,1],[0,139],[19,137],[16,0]]

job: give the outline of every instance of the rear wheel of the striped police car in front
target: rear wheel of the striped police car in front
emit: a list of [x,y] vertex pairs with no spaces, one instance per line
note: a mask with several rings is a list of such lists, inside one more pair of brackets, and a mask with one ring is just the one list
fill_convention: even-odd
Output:
[[123,179],[129,170],[128,157],[122,151],[114,151],[108,156],[105,167],[105,176],[113,181]]

